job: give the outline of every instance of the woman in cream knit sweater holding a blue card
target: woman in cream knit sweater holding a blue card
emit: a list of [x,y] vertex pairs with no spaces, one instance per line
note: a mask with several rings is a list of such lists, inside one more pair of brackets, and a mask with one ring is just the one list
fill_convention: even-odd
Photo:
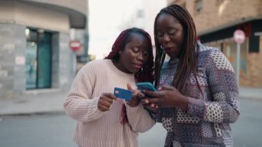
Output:
[[66,114],[77,120],[74,141],[81,147],[136,147],[138,133],[155,121],[139,104],[138,90],[132,100],[113,95],[115,87],[136,87],[154,81],[152,42],[139,28],[123,30],[105,59],[94,60],[79,70],[64,103]]

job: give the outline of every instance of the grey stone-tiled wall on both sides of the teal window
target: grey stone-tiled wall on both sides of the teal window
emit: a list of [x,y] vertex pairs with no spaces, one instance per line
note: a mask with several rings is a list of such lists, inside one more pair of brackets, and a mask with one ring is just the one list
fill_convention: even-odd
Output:
[[[0,23],[0,99],[26,92],[26,26]],[[52,88],[68,90],[75,76],[75,54],[68,33],[52,37]]]

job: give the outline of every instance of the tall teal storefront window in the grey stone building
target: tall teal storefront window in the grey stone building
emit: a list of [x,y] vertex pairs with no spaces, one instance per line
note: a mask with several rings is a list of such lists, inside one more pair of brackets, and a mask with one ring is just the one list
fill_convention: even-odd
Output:
[[52,33],[26,29],[26,89],[51,87]]

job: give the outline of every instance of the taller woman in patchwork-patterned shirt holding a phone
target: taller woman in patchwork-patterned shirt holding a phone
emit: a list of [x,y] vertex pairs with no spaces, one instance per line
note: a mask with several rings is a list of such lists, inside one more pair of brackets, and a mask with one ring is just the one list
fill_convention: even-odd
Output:
[[196,41],[192,17],[178,5],[157,14],[154,41],[158,91],[143,91],[150,98],[141,102],[168,131],[165,146],[233,146],[239,91],[228,59]]

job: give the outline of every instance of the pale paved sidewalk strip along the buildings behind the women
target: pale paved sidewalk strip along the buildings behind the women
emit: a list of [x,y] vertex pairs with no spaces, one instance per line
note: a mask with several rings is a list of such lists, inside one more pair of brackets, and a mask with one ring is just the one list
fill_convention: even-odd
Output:
[[[63,101],[68,92],[61,90],[32,90],[15,99],[0,99],[0,117],[6,115],[32,115],[63,113]],[[262,88],[239,88],[241,99],[262,101]]]

